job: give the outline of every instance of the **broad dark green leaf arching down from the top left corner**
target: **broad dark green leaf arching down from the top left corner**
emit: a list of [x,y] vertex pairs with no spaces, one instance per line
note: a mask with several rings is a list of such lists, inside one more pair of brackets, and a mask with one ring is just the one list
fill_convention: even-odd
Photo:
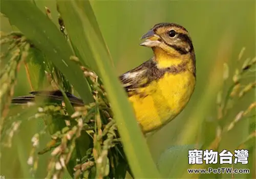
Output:
[[89,84],[79,66],[70,60],[73,53],[69,44],[44,13],[30,1],[7,0],[1,2],[1,13],[58,67],[84,102],[93,100]]

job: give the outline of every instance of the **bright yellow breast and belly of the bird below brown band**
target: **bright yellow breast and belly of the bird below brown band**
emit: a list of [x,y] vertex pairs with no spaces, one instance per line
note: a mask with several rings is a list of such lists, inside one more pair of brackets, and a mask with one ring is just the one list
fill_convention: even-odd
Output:
[[[174,119],[185,107],[195,87],[195,77],[185,71],[166,73],[129,98],[143,132],[150,132]],[[144,95],[143,95],[144,94]]]

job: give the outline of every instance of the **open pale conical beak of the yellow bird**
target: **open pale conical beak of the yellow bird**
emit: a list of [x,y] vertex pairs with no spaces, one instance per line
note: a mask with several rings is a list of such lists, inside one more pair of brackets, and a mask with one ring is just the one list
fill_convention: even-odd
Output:
[[144,42],[140,43],[140,46],[145,46],[145,47],[155,47],[158,46],[160,41],[160,37],[155,34],[153,30],[148,31],[145,33],[141,39],[145,39]]

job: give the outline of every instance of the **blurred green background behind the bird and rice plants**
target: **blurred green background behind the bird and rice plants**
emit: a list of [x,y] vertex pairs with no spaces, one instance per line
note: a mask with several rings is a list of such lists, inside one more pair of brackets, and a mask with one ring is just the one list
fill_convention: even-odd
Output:
[[[52,11],[57,25],[54,1],[35,1],[45,13]],[[153,159],[174,145],[198,144],[203,138],[215,136],[216,95],[223,87],[223,63],[233,70],[246,58],[255,56],[255,1],[91,1],[103,37],[114,60],[116,74],[120,75],[153,56],[151,49],[140,47],[140,37],[153,25],[172,22],[184,26],[190,33],[196,51],[197,84],[195,93],[182,113],[161,130],[148,137]],[[40,19],[38,19],[40,20]],[[9,32],[8,19],[1,16],[1,31]],[[82,40],[82,39],[81,39]],[[246,51],[238,63],[241,49]],[[3,68],[3,64],[1,69]],[[254,76],[245,81],[254,81]],[[224,93],[232,83],[224,85]],[[30,86],[24,66],[20,69],[15,96],[26,95]],[[251,91],[233,109],[233,116],[246,109],[254,98]],[[1,175],[6,178],[29,177],[27,160],[31,138],[44,128],[42,121],[22,123],[11,148],[1,148]],[[221,144],[221,148],[236,148],[248,136],[248,122],[242,121]],[[40,137],[43,148],[49,135]],[[48,154],[39,156],[36,178],[46,176]],[[69,175],[66,175],[67,177]],[[255,176],[255,175],[254,175]],[[230,177],[227,175],[226,177]],[[241,175],[241,177],[244,177]]]

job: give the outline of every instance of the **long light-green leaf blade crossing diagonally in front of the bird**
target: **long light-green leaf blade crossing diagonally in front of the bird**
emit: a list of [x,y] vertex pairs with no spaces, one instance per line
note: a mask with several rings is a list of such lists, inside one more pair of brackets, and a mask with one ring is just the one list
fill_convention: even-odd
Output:
[[[83,39],[84,44],[73,40],[73,45],[77,49],[91,51],[91,59],[87,59],[88,65],[92,68],[95,66],[95,69],[99,71],[98,75],[103,80],[124,151],[134,176],[136,178],[159,178],[160,174],[137,124],[133,109],[114,73],[109,52],[100,38],[100,32],[95,30],[96,25],[90,20],[95,17],[91,11],[87,11],[90,6],[89,1],[57,1],[57,4],[70,38]],[[76,29],[79,29],[79,33],[76,33]],[[86,43],[89,43],[90,47]]]

